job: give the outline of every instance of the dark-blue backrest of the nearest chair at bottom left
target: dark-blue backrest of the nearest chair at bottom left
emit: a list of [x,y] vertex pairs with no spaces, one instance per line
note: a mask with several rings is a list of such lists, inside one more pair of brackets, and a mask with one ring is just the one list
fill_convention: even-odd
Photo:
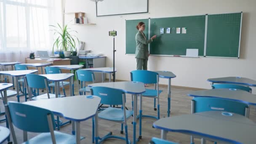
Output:
[[34,133],[50,132],[47,115],[51,116],[51,122],[53,128],[55,128],[53,113],[48,109],[15,101],[9,101],[7,107],[11,116],[11,122],[23,131]]

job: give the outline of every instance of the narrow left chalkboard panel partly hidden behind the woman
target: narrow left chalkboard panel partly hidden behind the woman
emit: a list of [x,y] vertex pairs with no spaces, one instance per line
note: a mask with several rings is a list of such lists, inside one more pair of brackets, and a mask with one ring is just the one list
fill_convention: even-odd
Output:
[[138,32],[136,26],[139,22],[145,23],[145,30],[144,33],[146,37],[149,34],[149,19],[136,19],[136,20],[126,20],[126,54],[135,54],[136,50],[136,41],[135,35]]

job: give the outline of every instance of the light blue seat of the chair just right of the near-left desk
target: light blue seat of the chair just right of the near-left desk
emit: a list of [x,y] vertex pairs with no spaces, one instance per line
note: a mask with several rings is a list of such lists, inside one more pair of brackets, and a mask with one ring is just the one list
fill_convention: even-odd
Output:
[[[126,119],[133,115],[133,111],[126,110]],[[115,107],[108,107],[99,113],[99,118],[112,121],[124,121],[123,110]]]

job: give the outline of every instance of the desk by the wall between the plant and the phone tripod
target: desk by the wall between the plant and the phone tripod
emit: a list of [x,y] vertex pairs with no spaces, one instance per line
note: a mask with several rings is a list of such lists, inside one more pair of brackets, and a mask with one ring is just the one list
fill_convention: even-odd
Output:
[[[90,57],[90,56],[79,56],[81,61],[85,61],[85,68],[98,68],[98,67],[106,67],[106,56],[99,57]],[[102,80],[102,75],[100,73],[96,73],[95,81],[100,82]]]

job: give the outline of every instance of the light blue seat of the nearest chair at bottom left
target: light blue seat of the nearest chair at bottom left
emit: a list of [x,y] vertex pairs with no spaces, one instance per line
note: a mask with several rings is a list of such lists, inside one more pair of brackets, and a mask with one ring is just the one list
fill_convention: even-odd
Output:
[[[75,135],[70,135],[67,133],[61,133],[59,131],[54,131],[56,138],[56,144],[75,144]],[[81,140],[84,137],[80,138]],[[52,144],[51,133],[41,133],[32,139],[22,143],[22,144]]]

